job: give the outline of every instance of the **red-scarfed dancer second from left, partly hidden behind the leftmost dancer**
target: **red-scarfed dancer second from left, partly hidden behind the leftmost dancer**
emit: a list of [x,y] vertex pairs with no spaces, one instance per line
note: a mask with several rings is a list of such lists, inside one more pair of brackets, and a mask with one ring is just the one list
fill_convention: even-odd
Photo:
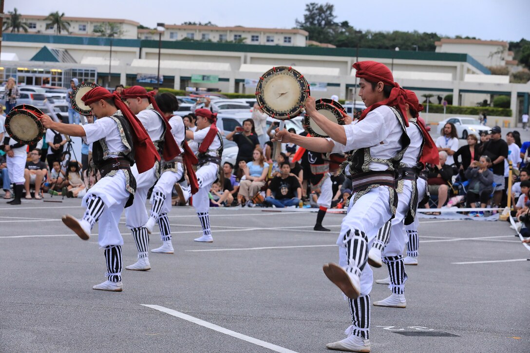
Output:
[[[144,87],[132,86],[121,91],[121,98],[125,100],[129,109],[142,122],[160,156],[171,160],[180,153],[179,147],[171,136],[171,127],[156,105],[154,92],[147,93]],[[125,209],[125,225],[133,233],[138,250],[138,261],[125,268],[134,271],[147,271],[151,269],[151,263],[149,263],[149,234],[144,226],[148,218],[145,201],[149,189],[160,177],[160,164],[155,163],[150,170],[143,173],[138,173],[136,166],[133,165],[131,171],[136,179],[136,195],[133,205]]]

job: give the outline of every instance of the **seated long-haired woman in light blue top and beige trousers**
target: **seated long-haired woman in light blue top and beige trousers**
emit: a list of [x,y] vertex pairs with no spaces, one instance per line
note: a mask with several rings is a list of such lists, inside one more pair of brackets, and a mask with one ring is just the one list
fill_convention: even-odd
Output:
[[252,202],[254,195],[265,185],[267,173],[269,173],[269,164],[264,162],[265,158],[261,148],[254,148],[252,158],[252,162],[246,163],[243,168],[245,175],[239,183],[238,205],[242,205],[245,200],[247,204]]

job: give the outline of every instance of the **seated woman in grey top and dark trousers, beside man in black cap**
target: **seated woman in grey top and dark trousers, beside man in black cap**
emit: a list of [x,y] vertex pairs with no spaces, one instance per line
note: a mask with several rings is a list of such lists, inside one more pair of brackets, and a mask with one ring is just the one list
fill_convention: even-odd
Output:
[[[466,207],[475,208],[476,201],[480,200],[480,207],[484,208],[491,199],[493,192],[493,172],[488,169],[490,157],[481,156],[480,160],[471,162],[465,171],[465,178],[469,180],[466,192]],[[471,212],[470,216],[482,216],[482,212]]]

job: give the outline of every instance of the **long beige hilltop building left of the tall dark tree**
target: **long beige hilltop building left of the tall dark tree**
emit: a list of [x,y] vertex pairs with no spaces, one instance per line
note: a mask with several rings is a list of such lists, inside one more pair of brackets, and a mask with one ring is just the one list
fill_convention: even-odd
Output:
[[138,30],[139,39],[201,40],[211,42],[242,42],[252,45],[305,47],[309,33],[301,29],[217,27],[166,24],[165,31]]

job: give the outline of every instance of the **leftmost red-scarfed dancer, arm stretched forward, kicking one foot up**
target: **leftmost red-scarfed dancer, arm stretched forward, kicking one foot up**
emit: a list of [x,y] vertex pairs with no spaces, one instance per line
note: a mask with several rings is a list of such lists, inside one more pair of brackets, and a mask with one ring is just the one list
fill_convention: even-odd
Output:
[[[131,165],[139,173],[153,167],[160,158],[144,127],[120,100],[103,87],[87,92],[82,101],[98,119],[83,126],[55,122],[47,115],[42,125],[59,133],[81,136],[86,144],[93,144],[92,161],[101,174],[101,180],[90,188],[83,198],[86,207],[81,220],[63,216],[63,222],[83,240],[88,240],[96,222],[100,222],[98,243],[104,248],[107,280],[93,289],[121,292],[121,245],[123,238],[118,228],[124,207],[133,203],[136,180]],[[136,156],[142,156],[135,161]]]

